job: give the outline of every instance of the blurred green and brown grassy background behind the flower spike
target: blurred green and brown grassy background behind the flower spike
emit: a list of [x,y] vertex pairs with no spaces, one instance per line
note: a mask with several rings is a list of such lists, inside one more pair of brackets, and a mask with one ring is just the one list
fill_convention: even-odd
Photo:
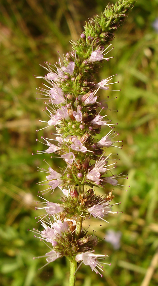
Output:
[[[103,0],[1,0],[0,1],[0,285],[67,286],[69,262],[58,259],[41,270],[45,259],[35,259],[48,248],[27,229],[36,227],[35,202],[45,179],[36,166],[47,168],[43,159],[57,168],[58,162],[41,154],[40,136],[49,137],[50,129],[38,120],[47,118],[43,100],[36,100],[36,87],[42,81],[32,74],[45,74],[39,64],[55,63],[60,53],[71,49],[69,41],[79,37],[82,26],[95,13],[100,14],[108,1]],[[115,3],[116,1],[111,1]],[[103,278],[89,266],[77,272],[76,286],[153,286],[158,284],[158,0],[137,0],[123,27],[112,42],[114,59],[104,64],[97,79],[118,74],[121,92],[101,92],[110,101],[109,118],[118,122],[123,140],[118,152],[117,173],[128,173],[128,192],[115,188],[115,202],[121,200],[123,214],[110,215],[109,222],[90,220],[89,231],[99,240],[108,230],[121,232],[119,249],[102,240],[97,253],[106,253],[111,267],[105,266]],[[157,24],[158,26],[158,24]],[[108,94],[107,94],[108,93]],[[108,129],[109,131],[109,129]],[[52,132],[52,130],[51,130]],[[107,130],[102,130],[102,136]],[[101,135],[100,137],[101,138]],[[107,191],[112,188],[107,187]],[[98,190],[96,190],[98,192]],[[104,190],[100,191],[101,194]],[[51,199],[51,194],[47,197]],[[59,191],[53,194],[57,202]],[[117,207],[118,209],[118,207]],[[39,214],[39,212],[38,212]],[[145,279],[144,279],[145,277]]]

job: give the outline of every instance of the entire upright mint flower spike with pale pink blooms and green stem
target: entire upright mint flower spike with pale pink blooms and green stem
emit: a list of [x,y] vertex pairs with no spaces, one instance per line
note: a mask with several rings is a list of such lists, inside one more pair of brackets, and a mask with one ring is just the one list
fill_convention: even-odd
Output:
[[[43,209],[43,217],[39,218],[43,230],[33,230],[35,237],[41,238],[49,247],[42,257],[47,265],[59,257],[66,256],[70,261],[69,285],[75,285],[76,271],[84,263],[92,271],[102,277],[105,264],[105,254],[95,254],[94,247],[98,239],[83,229],[83,220],[90,217],[104,220],[112,211],[113,195],[95,194],[95,186],[105,188],[106,185],[120,186],[119,178],[127,178],[115,173],[115,164],[111,160],[109,146],[121,148],[122,142],[117,140],[116,122],[108,117],[108,106],[99,103],[99,89],[114,90],[115,75],[96,82],[95,74],[111,56],[110,41],[114,31],[125,20],[127,13],[133,7],[135,0],[120,0],[115,5],[108,4],[99,17],[89,19],[84,31],[77,41],[72,41],[72,51],[67,52],[59,63],[51,65],[46,62],[43,66],[46,75],[43,78],[43,88],[39,93],[45,96],[45,109],[48,121],[44,128],[49,128],[51,138],[43,138],[45,150],[53,158],[61,158],[65,167],[53,170],[49,166],[46,180],[39,182],[47,185],[39,196],[37,209]],[[114,92],[117,90],[114,90]],[[38,93],[38,92],[37,92]],[[108,96],[107,96],[108,97]],[[52,134],[51,126],[55,126],[56,134]],[[101,126],[107,131],[101,140],[96,134],[101,132]],[[42,129],[44,129],[42,128]],[[40,129],[41,130],[41,129]],[[84,188],[88,185],[89,188]],[[48,201],[43,197],[47,192],[61,193],[60,203]],[[53,195],[52,195],[53,200]],[[119,204],[115,203],[115,205]],[[40,257],[37,257],[40,258]],[[77,263],[79,263],[77,267]]]

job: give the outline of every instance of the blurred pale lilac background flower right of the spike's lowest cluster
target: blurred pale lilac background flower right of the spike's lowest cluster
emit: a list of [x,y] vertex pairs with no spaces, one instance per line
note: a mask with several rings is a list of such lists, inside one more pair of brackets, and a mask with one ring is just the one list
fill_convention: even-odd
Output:
[[120,248],[121,235],[121,231],[109,229],[106,233],[105,241],[111,243],[113,248],[117,250]]

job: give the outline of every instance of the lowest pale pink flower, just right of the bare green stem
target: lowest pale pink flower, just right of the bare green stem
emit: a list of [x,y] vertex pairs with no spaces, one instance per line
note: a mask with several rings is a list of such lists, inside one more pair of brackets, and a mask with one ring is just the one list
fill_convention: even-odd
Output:
[[[105,257],[106,255],[104,254],[94,254],[92,252],[86,251],[80,254],[77,254],[75,257],[75,260],[77,262],[84,263],[85,265],[89,265],[92,269],[92,271],[95,271],[95,273],[99,273],[101,275],[101,277],[103,276],[99,271],[103,271],[103,267],[100,265],[99,261],[97,261],[97,258],[99,257]],[[107,263],[103,263],[103,264],[107,264]]]

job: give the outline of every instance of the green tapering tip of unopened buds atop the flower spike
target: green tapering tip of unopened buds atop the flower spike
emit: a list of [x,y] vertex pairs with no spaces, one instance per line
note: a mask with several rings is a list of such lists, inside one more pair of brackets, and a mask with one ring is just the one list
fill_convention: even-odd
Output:
[[[114,32],[123,24],[136,0],[119,0],[116,4],[108,4],[101,16],[95,15],[85,24],[84,31],[77,41],[72,41],[73,50],[77,55],[84,56],[85,47],[92,50],[108,45],[114,39]],[[92,50],[93,51],[93,50]]]

